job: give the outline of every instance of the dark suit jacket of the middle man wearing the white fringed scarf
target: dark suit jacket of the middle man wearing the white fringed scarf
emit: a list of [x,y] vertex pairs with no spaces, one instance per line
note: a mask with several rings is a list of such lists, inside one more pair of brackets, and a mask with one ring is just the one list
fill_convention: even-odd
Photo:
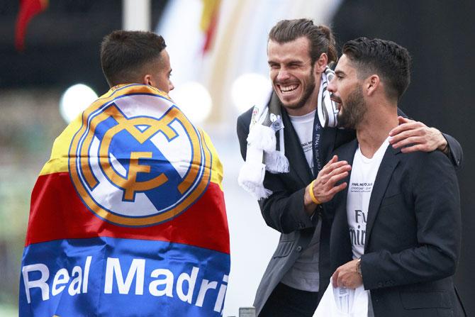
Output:
[[[269,103],[277,103],[281,106],[276,94],[272,94]],[[308,247],[319,218],[318,216],[310,218],[304,211],[303,206],[305,189],[316,178],[319,171],[315,170],[315,177],[313,177],[294,126],[292,126],[290,118],[282,106],[281,112],[284,124],[285,155],[289,160],[290,171],[289,173],[281,174],[266,172],[264,177],[264,187],[272,190],[273,194],[268,199],[260,200],[259,207],[267,225],[278,230],[281,236],[257,289],[254,302],[257,316],[276,285],[279,284],[284,274],[294,265],[300,252]],[[399,111],[399,114],[405,116],[401,111]],[[244,160],[246,158],[246,139],[249,134],[251,116],[252,108],[242,113],[237,123],[240,151]],[[455,166],[461,165],[462,148],[457,140],[449,135],[444,136],[449,143],[453,164]],[[276,133],[276,138],[277,144],[279,144],[279,133]],[[354,138],[354,130],[323,128],[319,142],[319,152],[323,163],[330,160],[333,150],[342,144],[354,140]],[[313,143],[315,143],[315,140],[313,140]],[[316,165],[315,169],[317,169]],[[319,206],[316,212],[320,218],[322,218],[322,211],[322,206]],[[328,257],[330,221],[325,217],[322,218],[322,221],[318,267],[320,272],[328,274],[330,269],[330,258]],[[320,289],[324,290],[328,285],[328,280],[321,276],[322,274],[320,273]],[[320,295],[322,294],[323,292],[320,292]]]

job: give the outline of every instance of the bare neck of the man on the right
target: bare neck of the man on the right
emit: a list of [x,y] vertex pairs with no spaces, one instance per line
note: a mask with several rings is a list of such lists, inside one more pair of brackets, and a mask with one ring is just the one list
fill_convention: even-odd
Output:
[[398,126],[397,107],[380,106],[376,113],[368,110],[364,117],[357,127],[357,139],[362,155],[371,158],[389,137],[389,131]]

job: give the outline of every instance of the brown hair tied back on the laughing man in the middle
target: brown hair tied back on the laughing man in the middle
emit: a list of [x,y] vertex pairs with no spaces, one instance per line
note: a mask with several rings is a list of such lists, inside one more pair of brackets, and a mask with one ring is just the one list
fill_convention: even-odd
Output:
[[269,40],[277,43],[288,43],[302,37],[310,42],[312,65],[322,53],[327,54],[329,64],[338,60],[335,38],[328,26],[315,26],[308,18],[298,18],[281,20],[269,32]]

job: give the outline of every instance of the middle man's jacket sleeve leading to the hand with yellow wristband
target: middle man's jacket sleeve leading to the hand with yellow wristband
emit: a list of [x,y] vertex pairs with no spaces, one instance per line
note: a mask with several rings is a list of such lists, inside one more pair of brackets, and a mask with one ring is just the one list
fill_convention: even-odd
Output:
[[[247,135],[251,111],[242,113],[238,118],[237,133],[242,158],[246,158]],[[272,191],[267,199],[259,201],[259,207],[267,226],[281,233],[291,233],[294,230],[314,227],[318,217],[308,216],[303,206],[305,187],[298,191],[289,192],[280,174],[266,172],[264,187]],[[321,207],[320,207],[321,208]]]

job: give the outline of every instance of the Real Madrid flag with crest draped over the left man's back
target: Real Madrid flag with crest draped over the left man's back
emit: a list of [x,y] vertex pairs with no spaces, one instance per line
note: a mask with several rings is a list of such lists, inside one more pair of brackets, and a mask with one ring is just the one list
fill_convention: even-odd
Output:
[[55,140],[33,189],[20,316],[220,316],[222,174],[167,94],[108,91]]

